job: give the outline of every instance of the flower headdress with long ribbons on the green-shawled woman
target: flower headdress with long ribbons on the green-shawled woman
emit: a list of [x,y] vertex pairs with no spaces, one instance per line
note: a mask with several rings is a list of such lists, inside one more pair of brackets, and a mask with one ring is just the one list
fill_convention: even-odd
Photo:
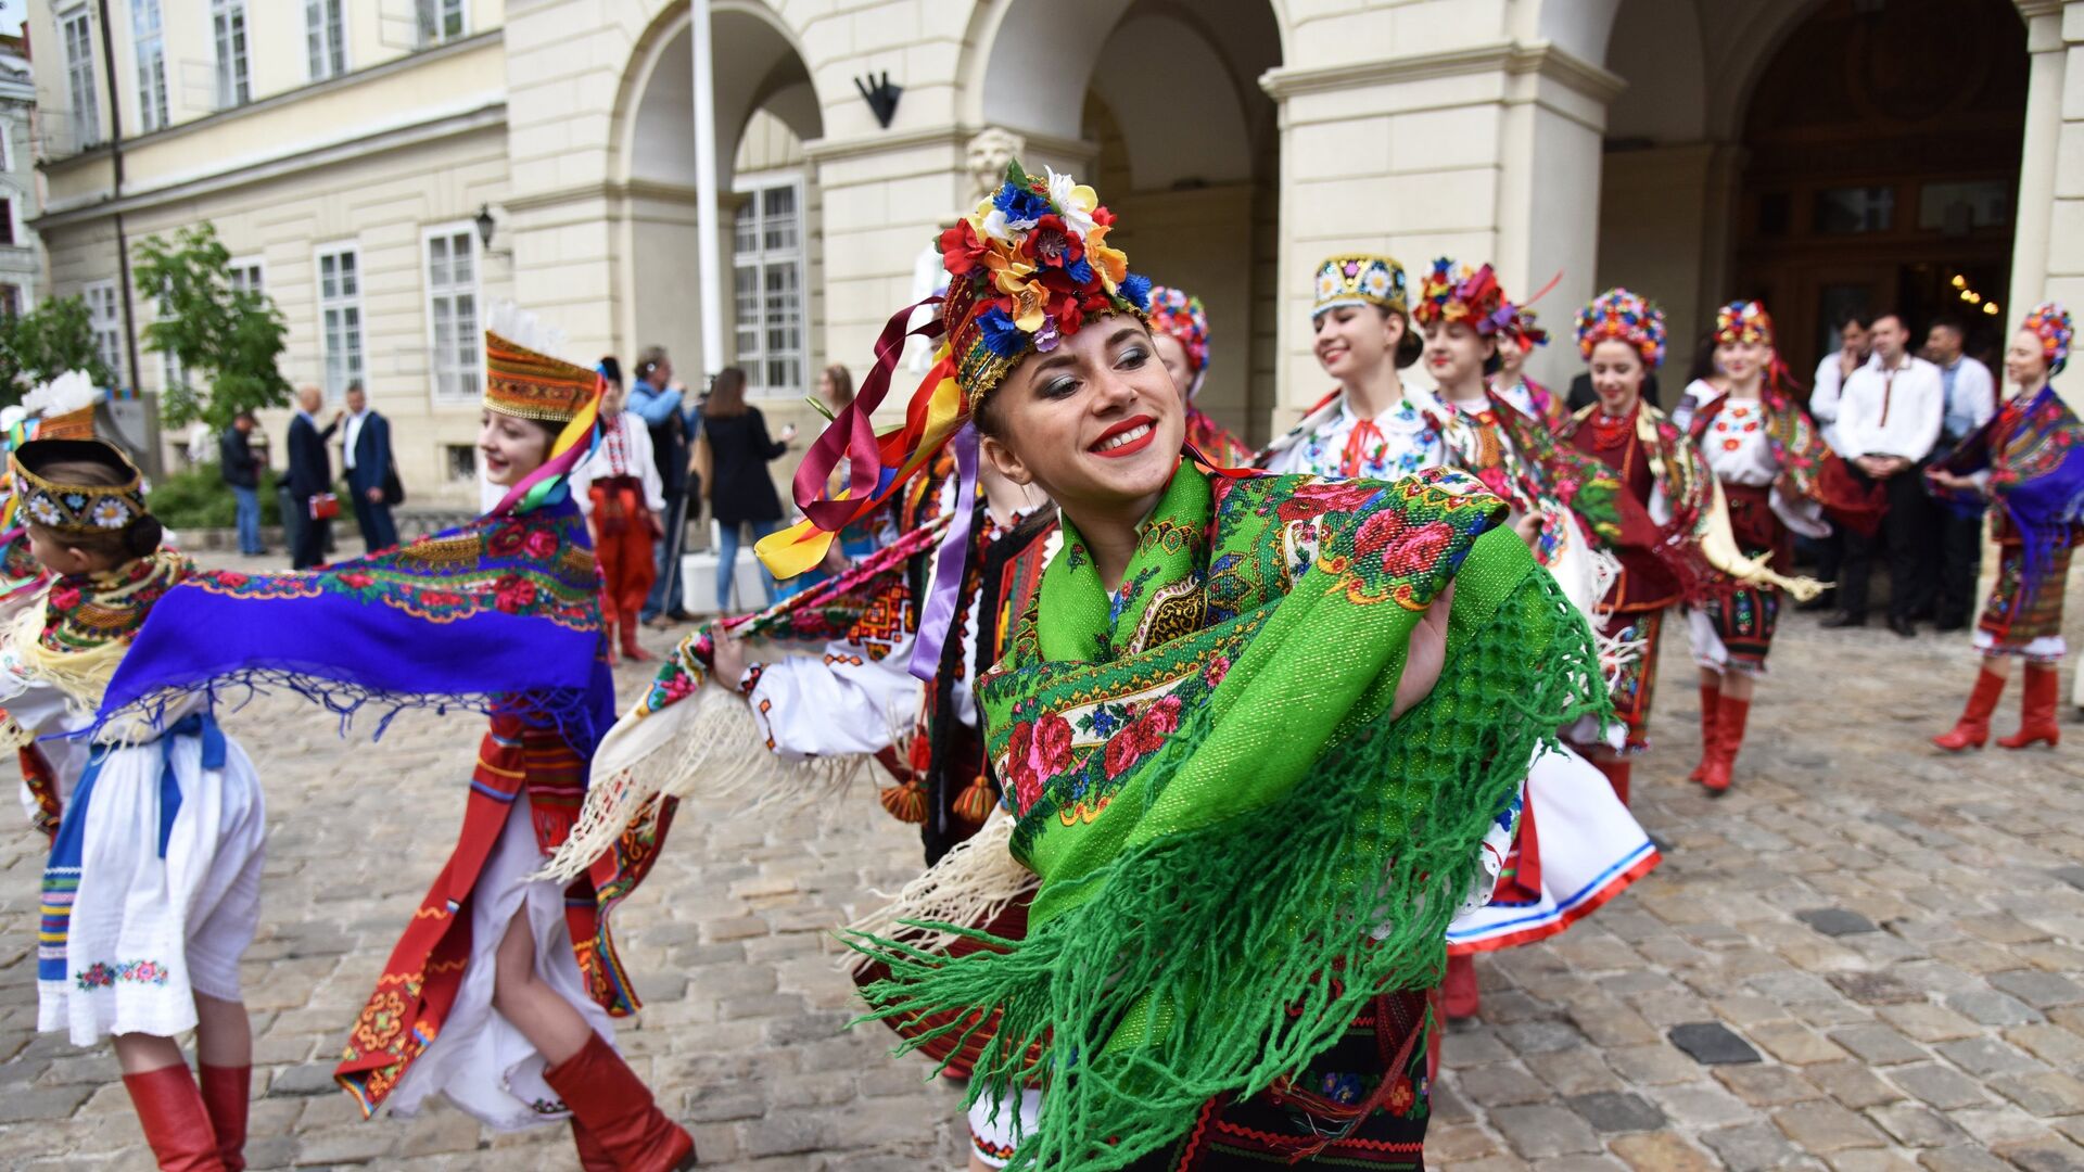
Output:
[[[756,553],[775,578],[794,578],[825,559],[834,536],[882,509],[954,440],[954,519],[940,546],[936,592],[927,599],[913,651],[913,674],[932,676],[952,621],[954,588],[969,551],[969,519],[977,494],[977,405],[1027,355],[1046,355],[1090,321],[1111,315],[1144,319],[1150,279],[1130,271],[1127,257],[1107,244],[1115,215],[1092,188],[1071,175],[1029,175],[1019,161],[973,213],[940,234],[948,292],[900,309],[875,342],[875,365],[854,402],[811,444],[796,469],[794,496],[802,521],[761,538]],[[921,307],[938,315],[911,327]],[[934,367],[913,392],[904,423],[875,434],[869,423],[909,336],[940,338]],[[846,461],[846,484],[829,490]]]

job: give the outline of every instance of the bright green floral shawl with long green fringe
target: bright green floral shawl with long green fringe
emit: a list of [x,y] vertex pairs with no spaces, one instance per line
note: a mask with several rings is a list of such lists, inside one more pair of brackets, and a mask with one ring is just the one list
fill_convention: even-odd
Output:
[[[1436,980],[1484,832],[1605,694],[1584,619],[1503,517],[1461,473],[1184,463],[1113,594],[1065,519],[979,682],[1011,849],[1042,876],[1029,932],[967,932],[992,947],[959,959],[854,941],[892,970],[873,1016],[998,1011],[971,1095],[1048,1089],[1019,1166],[1119,1168],[1302,1068],[1378,991]],[[1392,717],[1448,580],[1446,667]]]

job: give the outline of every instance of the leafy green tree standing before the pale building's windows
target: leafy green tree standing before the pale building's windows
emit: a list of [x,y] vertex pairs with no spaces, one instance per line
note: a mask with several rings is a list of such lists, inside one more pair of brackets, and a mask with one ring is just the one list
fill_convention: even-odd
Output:
[[217,225],[183,227],[171,242],[148,236],[138,244],[135,273],[138,288],[156,290],[158,302],[144,348],[181,365],[181,384],[160,396],[167,428],[202,419],[223,432],[240,411],[290,402],[279,369],[290,325],[265,292],[231,288],[231,250],[217,240]]

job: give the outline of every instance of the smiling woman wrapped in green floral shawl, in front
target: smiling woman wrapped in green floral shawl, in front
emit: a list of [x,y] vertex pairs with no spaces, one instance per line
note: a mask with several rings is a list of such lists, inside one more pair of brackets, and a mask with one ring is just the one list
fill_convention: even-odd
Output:
[[[892,972],[869,997],[940,1036],[996,1018],[971,1095],[1042,1084],[1015,1166],[1415,1168],[1423,991],[1453,913],[1488,897],[1534,747],[1596,703],[1590,636],[1467,478],[1182,459],[1148,284],[1111,223],[1090,188],[1009,169],[944,238],[946,344],[913,425],[827,432],[865,486],[957,434],[967,465],[977,436],[1063,517],[977,682],[1011,836],[927,876],[1038,876],[1027,936],[967,955],[857,936]],[[848,521],[815,505],[763,546],[777,569]]]

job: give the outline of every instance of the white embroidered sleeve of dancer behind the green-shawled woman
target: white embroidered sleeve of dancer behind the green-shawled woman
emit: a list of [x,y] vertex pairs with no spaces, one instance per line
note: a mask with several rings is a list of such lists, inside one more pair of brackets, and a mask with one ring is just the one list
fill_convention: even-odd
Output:
[[911,636],[879,657],[850,642],[823,655],[786,655],[748,676],[746,701],[784,761],[852,757],[888,749],[919,711],[919,680],[907,672]]

